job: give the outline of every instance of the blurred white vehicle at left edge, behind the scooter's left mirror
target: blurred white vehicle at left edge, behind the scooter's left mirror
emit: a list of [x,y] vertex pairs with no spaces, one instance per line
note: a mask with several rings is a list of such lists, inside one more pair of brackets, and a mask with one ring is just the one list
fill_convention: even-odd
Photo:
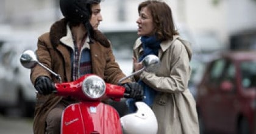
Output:
[[37,38],[29,36],[11,36],[1,40],[0,111],[4,115],[11,110],[15,110],[18,116],[34,115],[35,89],[30,82],[29,69],[20,64],[21,53],[36,47]]

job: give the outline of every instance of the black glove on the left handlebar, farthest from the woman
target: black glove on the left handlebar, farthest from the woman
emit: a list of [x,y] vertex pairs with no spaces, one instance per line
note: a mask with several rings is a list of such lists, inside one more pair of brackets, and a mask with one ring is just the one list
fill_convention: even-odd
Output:
[[35,90],[38,91],[39,94],[47,95],[51,94],[52,91],[55,90],[54,83],[49,77],[40,76],[35,80]]

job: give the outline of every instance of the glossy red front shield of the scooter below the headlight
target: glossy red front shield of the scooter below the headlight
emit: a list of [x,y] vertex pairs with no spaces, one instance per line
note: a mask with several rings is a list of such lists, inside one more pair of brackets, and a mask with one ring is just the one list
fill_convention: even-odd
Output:
[[101,102],[80,102],[69,105],[62,114],[63,134],[121,134],[118,112]]

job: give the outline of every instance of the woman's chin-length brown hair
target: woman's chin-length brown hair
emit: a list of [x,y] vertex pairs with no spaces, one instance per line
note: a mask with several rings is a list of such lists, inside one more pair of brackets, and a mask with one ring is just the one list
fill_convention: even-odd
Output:
[[140,13],[144,7],[151,12],[155,35],[159,40],[172,40],[173,35],[179,35],[169,5],[160,1],[144,1],[138,6],[138,12]]

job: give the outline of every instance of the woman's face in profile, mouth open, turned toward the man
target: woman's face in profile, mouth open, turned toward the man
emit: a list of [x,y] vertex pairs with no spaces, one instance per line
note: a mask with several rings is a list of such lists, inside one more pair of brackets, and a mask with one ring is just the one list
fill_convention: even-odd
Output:
[[138,36],[154,35],[153,19],[147,7],[141,8],[136,23],[138,24]]

